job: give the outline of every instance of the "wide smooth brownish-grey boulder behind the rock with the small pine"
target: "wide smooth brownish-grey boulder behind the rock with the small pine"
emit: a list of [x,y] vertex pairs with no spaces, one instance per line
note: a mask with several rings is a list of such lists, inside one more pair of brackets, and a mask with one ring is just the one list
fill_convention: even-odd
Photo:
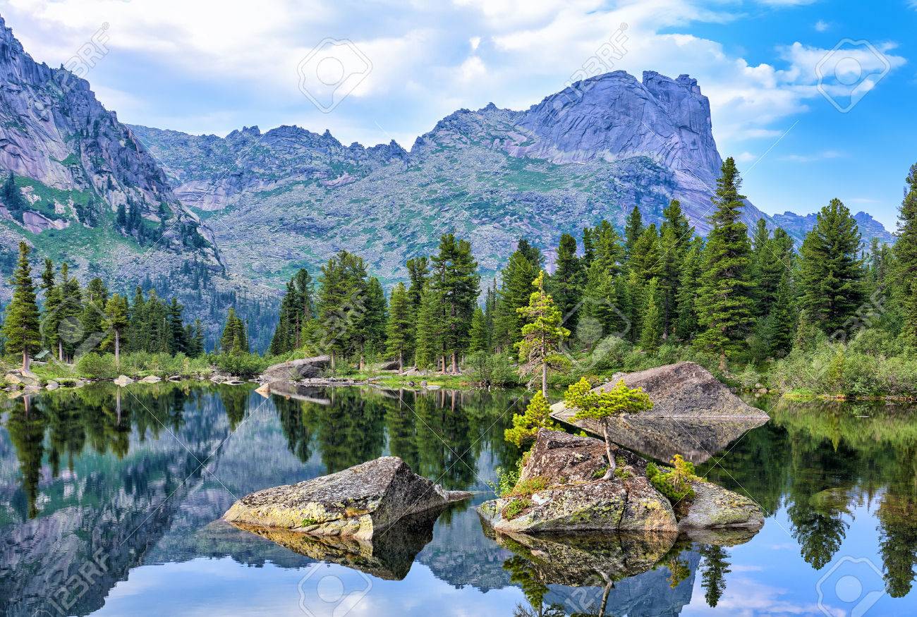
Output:
[[[716,380],[709,370],[694,362],[668,364],[656,369],[635,373],[617,373],[612,380],[593,391],[607,391],[619,380],[629,388],[642,388],[653,401],[653,408],[640,413],[642,418],[752,418],[768,420],[768,414],[752,407]],[[552,415],[563,422],[571,422],[576,410],[569,410],[563,402],[551,406]],[[590,432],[591,423],[577,421]]]

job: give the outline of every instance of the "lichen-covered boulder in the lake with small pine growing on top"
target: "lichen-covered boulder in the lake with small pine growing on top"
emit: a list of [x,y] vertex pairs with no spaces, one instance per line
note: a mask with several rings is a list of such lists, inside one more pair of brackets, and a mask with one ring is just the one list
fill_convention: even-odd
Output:
[[678,531],[668,499],[646,479],[646,463],[622,449],[618,477],[601,480],[605,446],[589,437],[538,432],[520,486],[529,495],[486,501],[481,519],[500,533]]

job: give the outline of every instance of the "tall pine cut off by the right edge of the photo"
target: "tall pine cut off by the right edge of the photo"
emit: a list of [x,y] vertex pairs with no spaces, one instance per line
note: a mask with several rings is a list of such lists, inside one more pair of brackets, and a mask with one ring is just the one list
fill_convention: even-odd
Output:
[[901,333],[911,347],[917,347],[917,164],[906,179],[908,192],[898,211],[898,241],[895,243],[895,290],[903,316]]

